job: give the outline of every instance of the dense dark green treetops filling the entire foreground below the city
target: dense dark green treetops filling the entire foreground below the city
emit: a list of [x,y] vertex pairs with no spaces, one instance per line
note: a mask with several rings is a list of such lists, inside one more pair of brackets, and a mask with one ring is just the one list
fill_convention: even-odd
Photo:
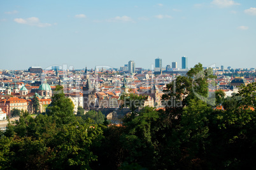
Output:
[[256,83],[208,101],[202,71],[196,65],[167,86],[164,101],[182,105],[134,109],[122,126],[104,126],[96,111],[74,116],[58,87],[47,114],[24,112],[1,134],[0,169],[256,169]]

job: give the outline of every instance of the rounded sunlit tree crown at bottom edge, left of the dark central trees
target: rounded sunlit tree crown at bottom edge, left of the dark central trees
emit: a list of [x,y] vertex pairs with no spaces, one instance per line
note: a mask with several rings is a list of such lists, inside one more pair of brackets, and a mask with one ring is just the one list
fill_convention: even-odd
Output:
[[48,160],[53,169],[90,169],[90,163],[97,160],[92,148],[101,143],[103,131],[97,124],[64,125],[53,136],[50,146],[52,157]]

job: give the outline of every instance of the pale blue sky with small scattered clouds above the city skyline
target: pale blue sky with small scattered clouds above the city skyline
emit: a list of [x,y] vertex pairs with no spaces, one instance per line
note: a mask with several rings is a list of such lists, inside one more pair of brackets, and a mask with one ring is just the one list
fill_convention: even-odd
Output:
[[256,68],[255,0],[0,1],[0,70]]

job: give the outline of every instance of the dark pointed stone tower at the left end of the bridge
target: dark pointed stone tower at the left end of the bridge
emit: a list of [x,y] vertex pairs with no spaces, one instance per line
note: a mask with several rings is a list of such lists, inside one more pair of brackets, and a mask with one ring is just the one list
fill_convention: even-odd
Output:
[[87,84],[83,86],[83,108],[90,110],[95,107],[95,89],[92,88],[90,79],[87,79]]

